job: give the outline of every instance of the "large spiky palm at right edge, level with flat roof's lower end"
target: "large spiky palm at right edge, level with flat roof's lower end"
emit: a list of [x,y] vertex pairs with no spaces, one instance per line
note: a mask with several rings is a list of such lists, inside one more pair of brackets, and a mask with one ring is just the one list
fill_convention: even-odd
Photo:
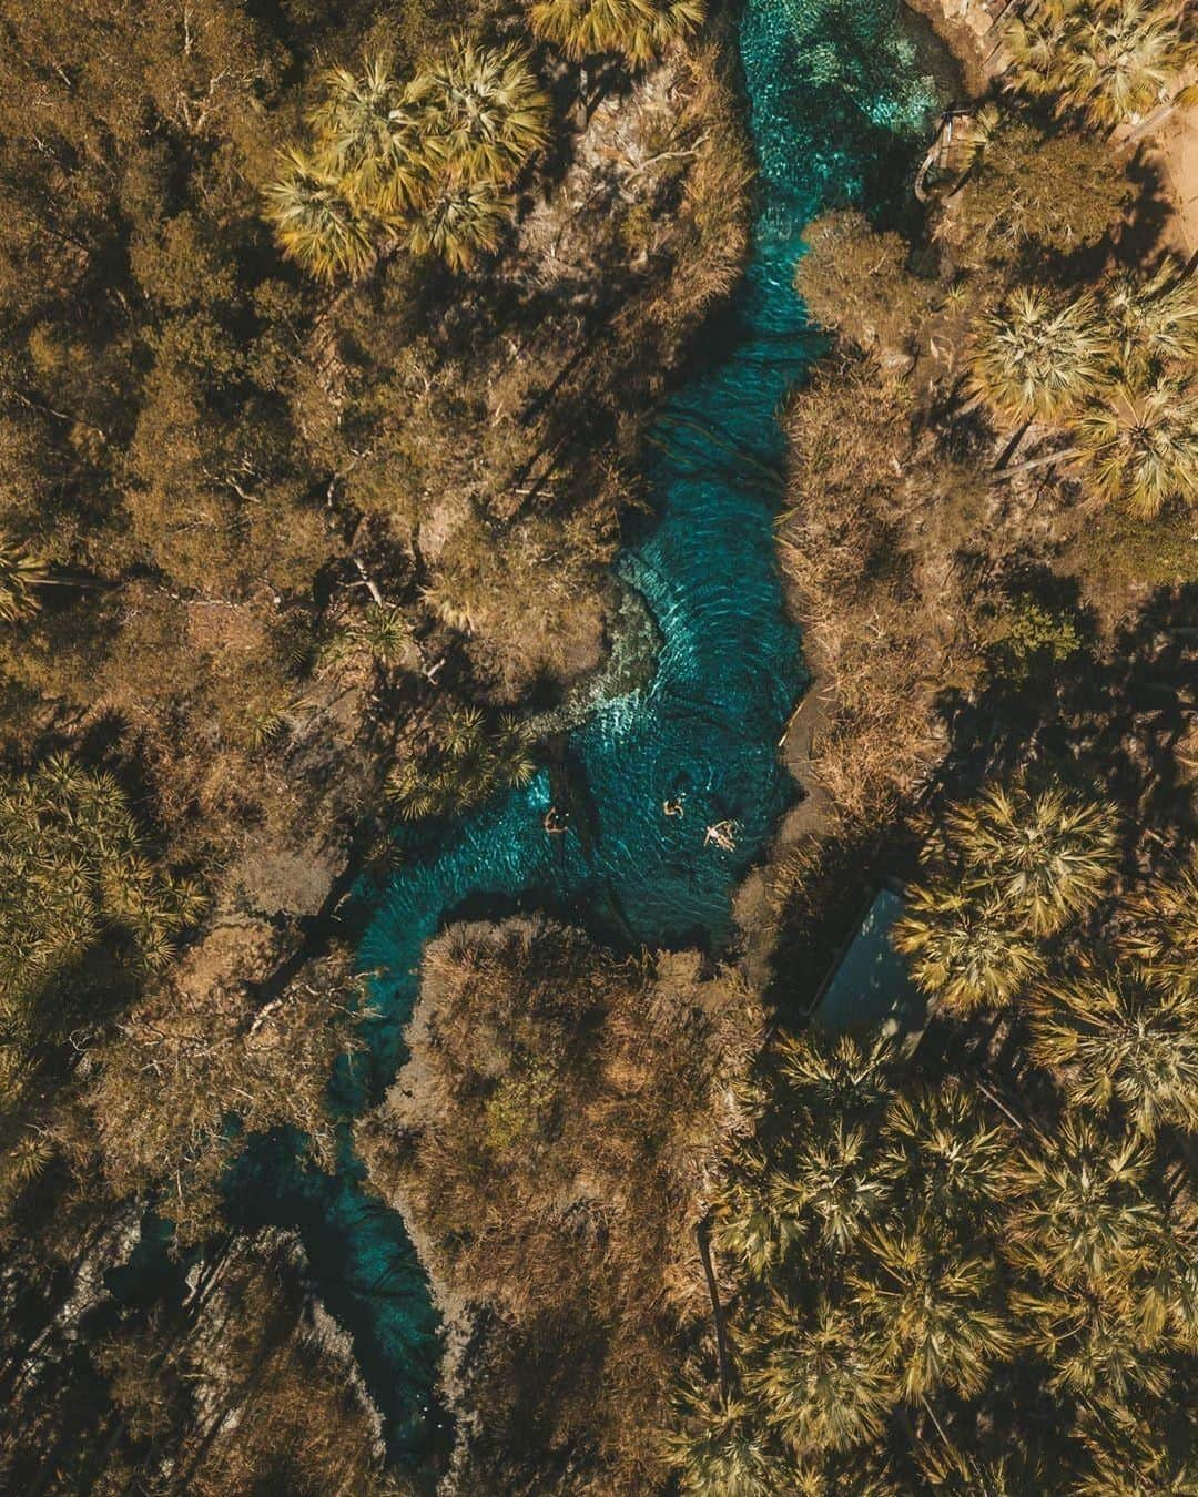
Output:
[[1128,966],[1044,984],[1030,1051],[1074,1103],[1117,1102],[1143,1133],[1198,1127],[1198,990],[1183,978]]

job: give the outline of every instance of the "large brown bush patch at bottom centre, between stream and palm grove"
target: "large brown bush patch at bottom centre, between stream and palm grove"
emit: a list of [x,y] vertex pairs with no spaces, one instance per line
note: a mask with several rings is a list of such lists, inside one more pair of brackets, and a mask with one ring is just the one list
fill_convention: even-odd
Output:
[[523,918],[427,948],[412,1060],[358,1145],[458,1307],[464,1490],[660,1485],[669,1371],[710,1314],[701,1198],[759,1031],[693,952]]

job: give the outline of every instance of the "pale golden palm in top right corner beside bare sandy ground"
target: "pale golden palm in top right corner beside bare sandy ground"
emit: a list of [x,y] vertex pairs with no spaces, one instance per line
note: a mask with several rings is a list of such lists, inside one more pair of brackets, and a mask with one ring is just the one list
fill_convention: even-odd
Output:
[[1153,0],[1050,0],[1005,31],[1011,87],[1099,127],[1174,99],[1194,57],[1177,9]]

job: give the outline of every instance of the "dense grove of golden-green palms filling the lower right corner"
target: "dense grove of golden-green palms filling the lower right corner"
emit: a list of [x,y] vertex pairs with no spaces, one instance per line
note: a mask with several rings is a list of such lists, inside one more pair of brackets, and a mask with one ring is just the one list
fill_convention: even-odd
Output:
[[[713,1198],[732,1370],[678,1380],[684,1491],[1192,1482],[1195,988],[1159,919],[1194,874],[1113,895],[1111,853],[1057,786],[949,807],[896,937],[936,1013],[915,1055],[776,1042]],[[975,910],[966,978],[928,933]]]

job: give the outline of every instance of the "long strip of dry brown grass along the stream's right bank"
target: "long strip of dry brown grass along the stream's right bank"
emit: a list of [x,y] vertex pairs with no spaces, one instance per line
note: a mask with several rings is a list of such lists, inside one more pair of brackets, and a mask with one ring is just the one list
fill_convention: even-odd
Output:
[[979,665],[964,557],[985,494],[912,440],[907,404],[875,362],[846,362],[786,416],[779,555],[827,702],[818,774],[851,823],[910,793],[943,750],[936,695]]

